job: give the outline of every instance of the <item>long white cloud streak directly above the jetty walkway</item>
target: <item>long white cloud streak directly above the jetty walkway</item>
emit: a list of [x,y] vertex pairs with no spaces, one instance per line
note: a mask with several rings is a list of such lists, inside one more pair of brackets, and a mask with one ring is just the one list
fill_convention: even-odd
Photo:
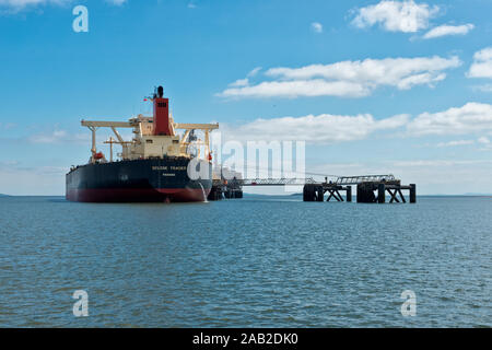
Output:
[[370,114],[340,116],[323,114],[303,117],[256,119],[242,126],[221,126],[224,138],[237,141],[307,141],[309,143],[333,143],[365,139],[378,130],[405,126],[407,115],[375,119]]

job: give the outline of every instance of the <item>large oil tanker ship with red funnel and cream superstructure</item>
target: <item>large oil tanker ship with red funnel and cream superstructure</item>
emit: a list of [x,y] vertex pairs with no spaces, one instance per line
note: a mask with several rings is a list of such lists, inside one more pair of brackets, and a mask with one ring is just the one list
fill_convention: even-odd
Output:
[[[72,166],[67,174],[66,198],[85,202],[204,201],[212,187],[212,155],[209,135],[218,124],[177,124],[159,86],[150,100],[153,116],[139,115],[128,121],[82,120],[92,131],[89,163]],[[96,148],[96,130],[110,128],[110,158]],[[118,128],[134,133],[125,141]],[[178,135],[176,130],[183,130]],[[202,131],[204,140],[196,131]],[[121,145],[113,160],[113,145]]]

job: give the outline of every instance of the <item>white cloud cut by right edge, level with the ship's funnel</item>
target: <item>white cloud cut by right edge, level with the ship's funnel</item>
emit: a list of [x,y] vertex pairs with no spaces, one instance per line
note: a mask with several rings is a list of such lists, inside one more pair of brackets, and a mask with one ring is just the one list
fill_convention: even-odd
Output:
[[462,107],[423,113],[408,126],[411,135],[465,135],[492,131],[492,105],[470,102]]

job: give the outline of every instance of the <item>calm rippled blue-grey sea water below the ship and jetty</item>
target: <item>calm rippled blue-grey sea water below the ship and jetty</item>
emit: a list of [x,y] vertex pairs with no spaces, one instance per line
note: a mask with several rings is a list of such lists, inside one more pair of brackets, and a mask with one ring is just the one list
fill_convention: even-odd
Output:
[[492,198],[418,200],[0,198],[0,326],[491,327]]

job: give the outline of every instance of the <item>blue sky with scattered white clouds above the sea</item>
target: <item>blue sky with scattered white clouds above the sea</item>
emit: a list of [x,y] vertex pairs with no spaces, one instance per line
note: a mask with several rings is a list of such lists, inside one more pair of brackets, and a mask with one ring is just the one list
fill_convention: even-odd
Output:
[[[89,32],[73,31],[80,4]],[[162,84],[176,121],[305,140],[307,173],[492,194],[490,13],[489,0],[0,0],[0,192],[65,195],[90,156],[80,120],[148,114]]]

